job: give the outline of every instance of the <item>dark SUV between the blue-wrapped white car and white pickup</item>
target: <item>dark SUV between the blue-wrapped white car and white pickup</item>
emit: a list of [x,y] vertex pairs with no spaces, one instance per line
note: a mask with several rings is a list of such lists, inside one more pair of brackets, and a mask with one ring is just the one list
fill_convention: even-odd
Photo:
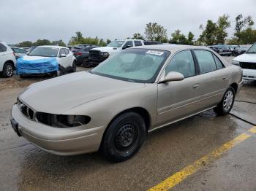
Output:
[[72,52],[77,58],[77,65],[80,66],[82,63],[86,63],[89,57],[89,50],[98,46],[86,46],[86,47],[73,47]]

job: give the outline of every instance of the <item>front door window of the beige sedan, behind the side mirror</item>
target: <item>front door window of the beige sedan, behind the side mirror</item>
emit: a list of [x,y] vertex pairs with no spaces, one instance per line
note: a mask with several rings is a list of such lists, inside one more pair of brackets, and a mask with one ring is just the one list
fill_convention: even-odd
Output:
[[190,50],[184,50],[174,55],[165,68],[165,74],[170,71],[180,72],[184,77],[195,76],[195,63],[192,52]]

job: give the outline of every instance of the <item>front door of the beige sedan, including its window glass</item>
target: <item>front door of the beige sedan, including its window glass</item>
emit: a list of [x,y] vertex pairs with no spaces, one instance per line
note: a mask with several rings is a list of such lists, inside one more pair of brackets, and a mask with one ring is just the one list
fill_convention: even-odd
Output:
[[200,112],[200,75],[190,50],[183,50],[173,56],[165,68],[164,75],[177,71],[184,75],[181,81],[158,84],[157,123],[168,122]]

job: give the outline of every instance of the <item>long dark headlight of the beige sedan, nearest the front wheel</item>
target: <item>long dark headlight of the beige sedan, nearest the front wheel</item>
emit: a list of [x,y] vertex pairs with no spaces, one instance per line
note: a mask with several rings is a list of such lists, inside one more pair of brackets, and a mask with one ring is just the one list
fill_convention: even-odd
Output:
[[54,128],[73,128],[86,125],[91,117],[85,115],[48,114],[37,112],[37,120]]

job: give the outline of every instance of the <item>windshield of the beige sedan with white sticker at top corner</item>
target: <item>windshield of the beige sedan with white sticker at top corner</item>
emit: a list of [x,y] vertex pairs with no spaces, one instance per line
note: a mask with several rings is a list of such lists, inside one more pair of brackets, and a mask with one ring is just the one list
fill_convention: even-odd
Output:
[[130,82],[153,83],[170,52],[165,50],[130,49],[108,58],[92,74]]

